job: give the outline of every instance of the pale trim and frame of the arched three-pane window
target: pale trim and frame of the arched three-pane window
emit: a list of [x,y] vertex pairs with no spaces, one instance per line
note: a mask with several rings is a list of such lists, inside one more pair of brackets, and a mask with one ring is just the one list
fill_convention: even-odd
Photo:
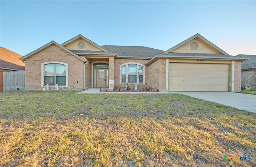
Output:
[[[137,82],[128,82],[128,65],[129,64],[136,64],[137,65]],[[126,82],[122,82],[122,66],[126,66]],[[139,66],[142,66],[143,67],[143,83],[142,82],[139,82]],[[124,64],[121,64],[120,65],[120,75],[119,75],[119,83],[122,84],[122,83],[137,83],[137,84],[145,84],[145,66],[140,64],[140,63],[136,63],[136,62],[128,62],[128,63],[124,63]]]

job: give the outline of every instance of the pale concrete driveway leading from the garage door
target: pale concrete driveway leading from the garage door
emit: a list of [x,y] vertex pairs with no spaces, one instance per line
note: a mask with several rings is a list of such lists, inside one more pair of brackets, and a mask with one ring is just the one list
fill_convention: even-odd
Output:
[[256,113],[256,95],[232,93],[228,91],[174,91],[172,93],[189,95],[198,99],[204,99]]

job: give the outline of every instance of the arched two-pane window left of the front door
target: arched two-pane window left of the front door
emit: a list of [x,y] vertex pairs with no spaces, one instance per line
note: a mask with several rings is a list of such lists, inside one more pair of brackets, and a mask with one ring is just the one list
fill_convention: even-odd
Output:
[[44,84],[66,85],[66,66],[63,64],[45,64]]

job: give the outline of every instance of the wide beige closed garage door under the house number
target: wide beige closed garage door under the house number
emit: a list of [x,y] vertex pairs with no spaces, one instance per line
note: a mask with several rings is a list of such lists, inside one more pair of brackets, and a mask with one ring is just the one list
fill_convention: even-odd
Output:
[[228,64],[169,64],[169,91],[228,91]]

